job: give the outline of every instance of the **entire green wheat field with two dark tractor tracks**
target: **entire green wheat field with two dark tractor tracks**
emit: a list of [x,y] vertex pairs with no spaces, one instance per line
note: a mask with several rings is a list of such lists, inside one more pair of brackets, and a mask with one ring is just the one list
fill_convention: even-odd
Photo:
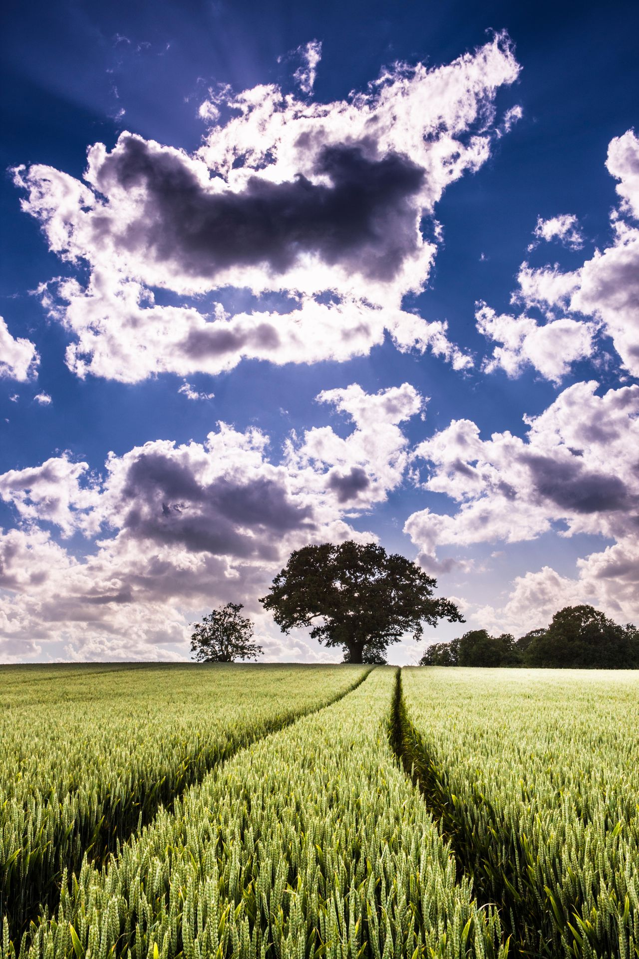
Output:
[[639,674],[0,667],[2,956],[639,956]]

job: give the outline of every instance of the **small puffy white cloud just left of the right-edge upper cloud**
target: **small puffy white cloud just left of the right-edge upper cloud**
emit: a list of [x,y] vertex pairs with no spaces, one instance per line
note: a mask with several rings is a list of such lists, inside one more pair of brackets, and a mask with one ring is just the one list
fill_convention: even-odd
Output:
[[559,383],[571,363],[595,352],[594,324],[566,316],[539,323],[531,316],[497,315],[486,303],[479,302],[475,322],[480,333],[500,344],[482,364],[487,373],[501,368],[516,377],[526,366],[532,366],[546,380]]

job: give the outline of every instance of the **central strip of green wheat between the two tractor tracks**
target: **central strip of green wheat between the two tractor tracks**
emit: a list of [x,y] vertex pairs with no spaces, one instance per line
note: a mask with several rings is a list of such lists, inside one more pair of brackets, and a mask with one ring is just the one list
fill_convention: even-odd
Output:
[[395,676],[241,750],[85,864],[30,959],[505,959],[391,752]]

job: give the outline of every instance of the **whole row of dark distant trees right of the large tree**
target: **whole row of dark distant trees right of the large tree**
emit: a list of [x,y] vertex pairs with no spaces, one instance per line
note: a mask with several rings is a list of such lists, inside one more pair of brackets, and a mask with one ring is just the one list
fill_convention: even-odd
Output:
[[421,666],[639,668],[639,630],[620,626],[593,606],[565,606],[547,629],[515,640],[472,629],[449,643],[430,645]]

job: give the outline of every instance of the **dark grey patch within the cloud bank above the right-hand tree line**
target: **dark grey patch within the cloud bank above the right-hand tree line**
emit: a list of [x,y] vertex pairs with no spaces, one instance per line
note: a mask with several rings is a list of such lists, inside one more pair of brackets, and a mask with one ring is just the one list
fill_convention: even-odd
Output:
[[631,498],[619,477],[590,473],[581,461],[558,462],[551,456],[525,454],[521,460],[531,470],[540,495],[576,513],[628,509]]

